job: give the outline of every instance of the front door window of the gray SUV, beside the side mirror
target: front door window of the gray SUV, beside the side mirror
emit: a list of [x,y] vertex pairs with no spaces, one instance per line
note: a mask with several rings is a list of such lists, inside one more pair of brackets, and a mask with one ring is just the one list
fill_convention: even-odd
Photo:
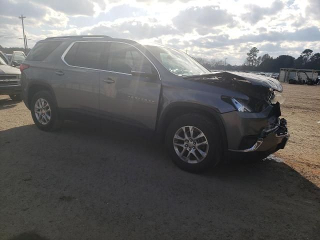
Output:
[[136,48],[124,43],[110,43],[105,69],[128,74],[131,70],[151,72],[151,64]]

